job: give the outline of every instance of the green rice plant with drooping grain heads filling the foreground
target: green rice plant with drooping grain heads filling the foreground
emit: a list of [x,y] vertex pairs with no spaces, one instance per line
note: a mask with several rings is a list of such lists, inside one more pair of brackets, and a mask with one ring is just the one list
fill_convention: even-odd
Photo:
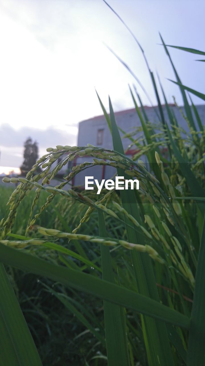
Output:
[[[205,95],[182,85],[162,43],[182,92],[188,133],[178,126],[163,92],[169,121],[165,119],[150,72],[158,132],[140,96],[138,103],[130,89],[143,131],[142,141],[134,133],[126,135],[132,145],[140,145],[132,159],[123,150],[111,100],[108,114],[98,96],[113,150],[89,143],[49,147],[26,178],[3,179],[19,185],[0,223],[0,365],[42,365],[4,265],[57,283],[57,289],[43,286],[89,333],[92,346],[87,345],[85,365],[205,365],[205,131],[185,90],[204,100]],[[58,186],[48,184],[68,161],[85,155],[93,161],[73,167]],[[144,155],[148,164],[140,160]],[[104,189],[96,195],[71,187],[74,176],[96,165],[114,167],[125,179],[137,178],[139,190]],[[44,170],[37,173],[39,167]],[[24,216],[21,207],[31,196],[29,215]],[[87,301],[101,301],[104,321],[79,291],[88,294]]]

